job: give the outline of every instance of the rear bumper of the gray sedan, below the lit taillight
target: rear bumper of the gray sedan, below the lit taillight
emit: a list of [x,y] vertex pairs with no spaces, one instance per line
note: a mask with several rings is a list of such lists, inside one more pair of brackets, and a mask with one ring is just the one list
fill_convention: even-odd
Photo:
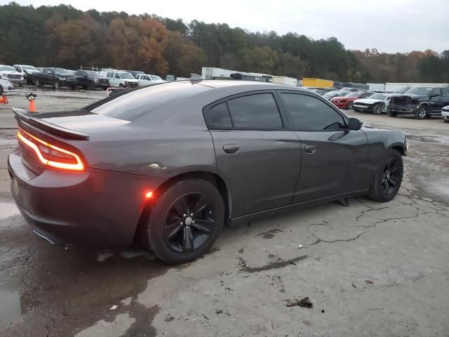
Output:
[[145,194],[157,178],[88,169],[65,173],[46,169],[36,176],[18,150],[8,157],[11,192],[32,230],[48,242],[90,247],[133,242]]

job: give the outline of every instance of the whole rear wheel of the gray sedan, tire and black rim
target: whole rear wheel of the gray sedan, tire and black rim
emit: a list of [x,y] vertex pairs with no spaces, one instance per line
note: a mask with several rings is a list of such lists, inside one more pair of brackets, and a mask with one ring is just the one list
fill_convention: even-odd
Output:
[[181,180],[155,196],[142,241],[166,263],[185,263],[206,253],[225,223],[225,204],[212,183]]

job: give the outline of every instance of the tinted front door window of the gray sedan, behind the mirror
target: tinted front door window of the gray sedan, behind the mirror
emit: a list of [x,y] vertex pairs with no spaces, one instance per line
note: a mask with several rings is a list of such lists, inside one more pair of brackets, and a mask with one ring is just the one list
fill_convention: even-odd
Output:
[[341,128],[343,117],[318,98],[296,93],[281,93],[294,130],[321,131]]

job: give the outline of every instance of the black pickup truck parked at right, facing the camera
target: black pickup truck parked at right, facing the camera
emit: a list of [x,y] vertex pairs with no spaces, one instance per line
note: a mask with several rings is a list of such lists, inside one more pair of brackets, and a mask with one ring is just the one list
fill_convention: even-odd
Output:
[[401,95],[393,95],[388,103],[389,116],[413,114],[416,119],[441,115],[441,109],[449,105],[449,88],[415,86]]

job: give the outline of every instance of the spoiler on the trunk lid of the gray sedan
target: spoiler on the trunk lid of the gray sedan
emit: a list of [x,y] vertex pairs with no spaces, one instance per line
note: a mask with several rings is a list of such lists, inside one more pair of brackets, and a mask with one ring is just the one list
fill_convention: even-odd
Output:
[[48,121],[43,121],[42,119],[33,117],[29,114],[27,110],[20,109],[18,107],[13,107],[13,112],[15,114],[15,119],[17,119],[18,124],[25,123],[32,126],[36,126],[43,131],[52,133],[55,136],[61,136],[64,138],[74,139],[74,140],[88,140],[89,136],[85,133],[70,130],[69,128],[62,128],[61,126],[48,123]]

